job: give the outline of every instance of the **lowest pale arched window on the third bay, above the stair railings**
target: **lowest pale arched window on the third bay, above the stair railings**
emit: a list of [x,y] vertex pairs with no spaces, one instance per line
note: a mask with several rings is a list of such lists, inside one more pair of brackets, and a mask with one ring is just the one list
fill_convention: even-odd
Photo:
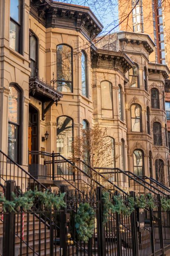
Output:
[[140,177],[144,175],[143,151],[141,149],[133,151],[133,172]]

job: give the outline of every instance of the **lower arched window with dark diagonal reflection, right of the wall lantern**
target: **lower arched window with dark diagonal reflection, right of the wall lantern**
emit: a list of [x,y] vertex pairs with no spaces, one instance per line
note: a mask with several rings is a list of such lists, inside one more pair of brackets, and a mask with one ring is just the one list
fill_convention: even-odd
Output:
[[57,153],[72,158],[73,121],[67,116],[57,118]]

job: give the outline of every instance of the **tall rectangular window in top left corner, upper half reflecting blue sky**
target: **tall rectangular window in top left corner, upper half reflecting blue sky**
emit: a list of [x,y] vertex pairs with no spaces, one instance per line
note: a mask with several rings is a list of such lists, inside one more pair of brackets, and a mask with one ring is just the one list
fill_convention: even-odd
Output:
[[22,51],[22,4],[21,0],[10,0],[10,48]]

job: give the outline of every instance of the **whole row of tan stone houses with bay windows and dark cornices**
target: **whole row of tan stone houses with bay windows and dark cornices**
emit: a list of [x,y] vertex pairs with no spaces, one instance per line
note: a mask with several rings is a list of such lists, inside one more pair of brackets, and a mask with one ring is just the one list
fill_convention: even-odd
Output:
[[164,87],[170,71],[149,62],[150,36],[100,37],[102,24],[90,8],[49,0],[0,0],[0,24],[5,154],[35,174],[39,160],[28,151],[72,158],[74,136],[99,125],[112,157],[119,155],[111,167],[168,184]]

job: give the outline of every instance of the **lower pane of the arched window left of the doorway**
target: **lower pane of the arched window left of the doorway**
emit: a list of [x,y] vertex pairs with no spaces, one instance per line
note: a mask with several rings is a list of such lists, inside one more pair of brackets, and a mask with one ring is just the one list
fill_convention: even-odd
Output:
[[18,140],[18,127],[8,123],[8,156],[17,161],[17,140]]

